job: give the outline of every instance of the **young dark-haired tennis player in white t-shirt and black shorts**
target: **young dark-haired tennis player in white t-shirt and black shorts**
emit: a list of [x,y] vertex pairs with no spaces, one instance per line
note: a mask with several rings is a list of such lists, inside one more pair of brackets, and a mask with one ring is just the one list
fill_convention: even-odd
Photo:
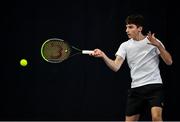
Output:
[[95,49],[91,55],[102,58],[115,72],[127,58],[132,82],[128,91],[126,121],[139,120],[141,110],[146,104],[151,107],[152,120],[162,121],[163,91],[159,56],[167,65],[172,64],[172,58],[154,33],[143,35],[143,20],[142,15],[130,15],[126,18],[129,40],[120,45],[114,60],[100,49]]

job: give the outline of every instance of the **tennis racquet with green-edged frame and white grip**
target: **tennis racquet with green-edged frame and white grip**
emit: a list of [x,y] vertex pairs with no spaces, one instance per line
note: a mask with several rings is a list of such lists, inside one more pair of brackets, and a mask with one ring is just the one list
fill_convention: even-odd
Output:
[[50,63],[61,63],[77,54],[91,53],[93,53],[92,50],[81,50],[59,38],[48,39],[41,46],[41,56],[45,61]]

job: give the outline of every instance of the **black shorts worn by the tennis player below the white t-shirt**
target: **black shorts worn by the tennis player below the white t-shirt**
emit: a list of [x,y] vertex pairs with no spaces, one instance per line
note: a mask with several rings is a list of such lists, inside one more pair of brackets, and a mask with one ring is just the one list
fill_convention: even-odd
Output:
[[146,106],[163,107],[162,84],[149,84],[128,90],[126,116],[140,114]]

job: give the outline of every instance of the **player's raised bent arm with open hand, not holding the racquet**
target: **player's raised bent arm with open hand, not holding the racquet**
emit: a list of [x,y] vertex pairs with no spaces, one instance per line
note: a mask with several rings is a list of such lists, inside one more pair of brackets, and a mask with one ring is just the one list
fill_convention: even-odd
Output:
[[160,56],[163,59],[163,61],[167,65],[172,65],[172,57],[171,54],[162,46],[162,44],[156,40],[154,33],[151,35],[151,32],[148,33],[148,40],[151,42],[150,44],[156,46],[160,51]]

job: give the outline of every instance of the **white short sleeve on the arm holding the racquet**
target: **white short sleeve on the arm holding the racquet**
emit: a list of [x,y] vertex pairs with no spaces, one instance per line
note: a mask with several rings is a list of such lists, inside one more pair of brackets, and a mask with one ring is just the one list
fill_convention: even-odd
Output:
[[126,57],[126,49],[125,49],[126,45],[125,43],[122,43],[119,48],[118,51],[116,52],[115,56],[121,56],[123,59],[125,59]]

